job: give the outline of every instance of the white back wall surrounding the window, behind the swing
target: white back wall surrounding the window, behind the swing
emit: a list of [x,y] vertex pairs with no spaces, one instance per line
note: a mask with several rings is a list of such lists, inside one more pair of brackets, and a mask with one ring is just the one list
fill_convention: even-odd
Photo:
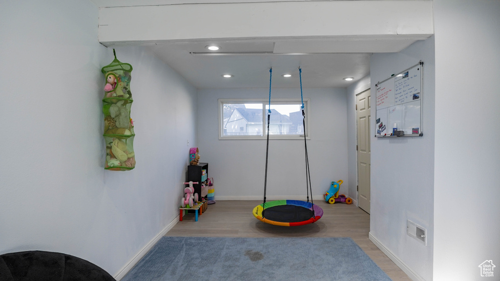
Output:
[[[263,71],[266,71],[263,69]],[[198,147],[214,178],[215,199],[261,199],[265,140],[219,140],[217,98],[266,98],[268,88],[198,91]],[[273,98],[300,98],[300,89],[272,89]],[[304,88],[310,98],[311,139],[307,140],[312,194],[321,196],[332,180],[342,179],[347,193],[345,89]],[[267,197],[305,199],[303,140],[269,140]]]

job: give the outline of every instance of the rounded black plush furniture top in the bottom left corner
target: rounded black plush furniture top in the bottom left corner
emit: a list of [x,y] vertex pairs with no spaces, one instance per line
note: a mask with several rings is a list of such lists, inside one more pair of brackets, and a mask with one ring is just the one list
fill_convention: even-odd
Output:
[[0,255],[0,281],[116,281],[99,266],[69,254],[20,251]]

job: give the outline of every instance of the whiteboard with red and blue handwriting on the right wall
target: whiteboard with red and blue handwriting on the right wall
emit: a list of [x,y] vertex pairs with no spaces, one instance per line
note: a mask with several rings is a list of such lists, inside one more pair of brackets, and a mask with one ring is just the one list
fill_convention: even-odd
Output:
[[423,62],[375,84],[375,137],[422,136]]

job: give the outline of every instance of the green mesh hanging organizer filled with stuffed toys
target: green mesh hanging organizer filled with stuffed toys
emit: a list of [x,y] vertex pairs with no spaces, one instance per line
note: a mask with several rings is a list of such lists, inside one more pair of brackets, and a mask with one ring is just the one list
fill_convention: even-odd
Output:
[[132,93],[130,92],[130,72],[132,65],[116,59],[102,67],[105,75],[104,98],[104,141],[106,142],[106,163],[108,170],[131,170],[135,167],[133,152],[133,122],[130,118]]

